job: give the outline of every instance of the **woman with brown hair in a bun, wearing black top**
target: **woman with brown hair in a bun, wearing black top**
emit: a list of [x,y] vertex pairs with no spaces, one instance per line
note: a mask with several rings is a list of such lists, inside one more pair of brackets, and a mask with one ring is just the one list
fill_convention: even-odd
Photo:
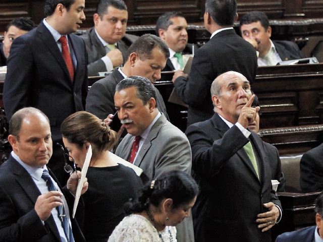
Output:
[[87,242],[106,242],[125,217],[123,205],[138,197],[142,181],[131,168],[111,159],[109,150],[117,142],[117,133],[97,116],[76,112],[64,120],[61,132],[69,155],[81,168],[91,145],[86,174],[89,187],[82,195],[84,213],[80,209],[77,220]]

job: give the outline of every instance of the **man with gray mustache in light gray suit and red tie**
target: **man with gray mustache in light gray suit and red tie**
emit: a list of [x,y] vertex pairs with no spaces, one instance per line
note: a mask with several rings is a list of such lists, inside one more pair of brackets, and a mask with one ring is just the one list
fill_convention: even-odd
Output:
[[[191,149],[188,140],[158,111],[155,89],[148,79],[133,76],[119,82],[115,107],[128,131],[116,155],[143,169],[140,176],[143,184],[170,170],[190,174]],[[176,227],[179,242],[194,241],[192,217]]]

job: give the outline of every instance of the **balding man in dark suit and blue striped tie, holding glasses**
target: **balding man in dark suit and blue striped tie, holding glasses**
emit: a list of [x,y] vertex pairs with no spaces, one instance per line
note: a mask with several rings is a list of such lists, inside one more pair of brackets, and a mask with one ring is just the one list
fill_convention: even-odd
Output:
[[[72,218],[70,194],[76,194],[80,172],[62,189],[46,167],[52,153],[48,118],[33,107],[20,109],[10,120],[9,133],[13,151],[0,166],[0,240],[85,242]],[[85,181],[82,193],[87,186]]]

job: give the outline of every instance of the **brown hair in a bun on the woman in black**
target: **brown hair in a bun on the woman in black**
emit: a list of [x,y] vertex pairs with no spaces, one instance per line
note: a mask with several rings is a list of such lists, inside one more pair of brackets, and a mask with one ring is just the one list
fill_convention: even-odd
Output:
[[110,150],[117,142],[117,133],[97,116],[79,111],[68,116],[61,126],[64,138],[81,148],[85,141],[92,144],[93,156]]

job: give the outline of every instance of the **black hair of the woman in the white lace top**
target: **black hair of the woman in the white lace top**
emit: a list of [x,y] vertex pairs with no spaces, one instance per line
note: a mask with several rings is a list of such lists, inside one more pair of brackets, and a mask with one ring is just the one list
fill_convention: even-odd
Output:
[[140,213],[147,210],[150,204],[158,207],[168,198],[173,199],[173,209],[177,209],[181,205],[189,204],[198,192],[198,185],[190,175],[173,170],[156,179],[153,188],[151,183],[146,184],[138,200],[125,204],[125,212],[127,215]]

